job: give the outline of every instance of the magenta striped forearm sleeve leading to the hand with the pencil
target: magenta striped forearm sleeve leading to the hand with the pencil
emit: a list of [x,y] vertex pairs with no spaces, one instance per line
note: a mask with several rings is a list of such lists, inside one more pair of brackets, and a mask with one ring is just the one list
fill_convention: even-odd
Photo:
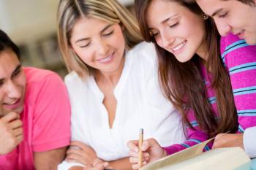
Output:
[[[163,149],[167,152],[167,155],[171,155],[175,152],[187,149],[188,147],[192,147],[195,144],[199,144],[208,139],[208,135],[205,132],[200,130],[199,125],[198,125],[197,121],[195,120],[194,113],[192,111],[189,112],[188,119],[189,119],[189,122],[191,123],[191,125],[193,126],[193,128],[195,128],[195,129],[190,128],[187,125],[187,141],[185,141],[184,143],[181,143],[181,144],[173,144],[168,147],[163,147]],[[212,145],[212,143],[206,145],[206,147],[204,147],[204,151],[210,150],[211,145]]]

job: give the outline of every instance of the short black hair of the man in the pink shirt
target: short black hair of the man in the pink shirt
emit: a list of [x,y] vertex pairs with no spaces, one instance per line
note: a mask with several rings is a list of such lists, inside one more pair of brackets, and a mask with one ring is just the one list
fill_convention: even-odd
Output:
[[0,53],[4,50],[12,50],[20,60],[20,50],[18,46],[12,42],[12,39],[10,39],[4,31],[0,30]]

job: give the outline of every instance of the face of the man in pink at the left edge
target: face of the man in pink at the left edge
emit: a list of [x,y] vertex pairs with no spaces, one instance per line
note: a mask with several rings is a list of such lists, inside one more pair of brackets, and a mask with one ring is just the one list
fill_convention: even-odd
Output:
[[9,112],[22,112],[26,76],[20,61],[12,50],[0,53],[0,117]]

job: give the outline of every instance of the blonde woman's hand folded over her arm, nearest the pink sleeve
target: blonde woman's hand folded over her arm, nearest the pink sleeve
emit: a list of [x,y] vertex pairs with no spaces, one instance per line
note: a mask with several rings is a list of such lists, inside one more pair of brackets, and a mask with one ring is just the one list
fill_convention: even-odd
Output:
[[96,158],[94,149],[82,142],[72,141],[69,150],[67,150],[67,161],[81,163],[85,166],[92,165]]

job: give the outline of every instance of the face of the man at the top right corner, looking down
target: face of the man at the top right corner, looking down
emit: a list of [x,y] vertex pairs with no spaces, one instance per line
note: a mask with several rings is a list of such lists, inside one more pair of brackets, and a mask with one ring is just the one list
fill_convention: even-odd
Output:
[[256,6],[237,0],[197,0],[197,4],[214,18],[219,34],[231,32],[249,45],[256,44]]

